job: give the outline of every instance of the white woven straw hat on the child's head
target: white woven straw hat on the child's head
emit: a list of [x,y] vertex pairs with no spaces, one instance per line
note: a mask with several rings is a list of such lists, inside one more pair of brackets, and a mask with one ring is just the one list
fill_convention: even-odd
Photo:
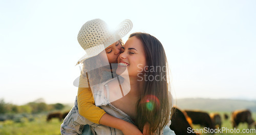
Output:
[[80,58],[77,64],[98,55],[111,44],[124,37],[132,28],[133,23],[129,19],[123,20],[115,30],[110,30],[106,22],[101,19],[87,21],[77,35],[77,40],[86,51],[86,55]]

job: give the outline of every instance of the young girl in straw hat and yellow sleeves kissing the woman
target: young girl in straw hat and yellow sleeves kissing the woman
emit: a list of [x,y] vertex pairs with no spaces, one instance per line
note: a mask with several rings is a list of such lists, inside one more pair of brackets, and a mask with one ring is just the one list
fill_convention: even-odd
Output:
[[[92,94],[92,91],[97,91],[95,87],[97,84],[116,77],[116,66],[110,63],[117,63],[117,57],[123,44],[121,38],[131,29],[131,20],[122,21],[116,31],[110,31],[105,22],[100,19],[90,20],[82,26],[77,39],[87,54],[77,63],[83,63],[77,104],[79,114],[93,123],[117,128],[124,134],[142,134],[134,124],[110,116],[103,109],[96,107]],[[69,114],[68,117],[74,117],[72,115]],[[80,134],[81,126],[70,126],[66,121],[68,117],[61,124],[61,134]],[[66,127],[73,128],[67,129]]]

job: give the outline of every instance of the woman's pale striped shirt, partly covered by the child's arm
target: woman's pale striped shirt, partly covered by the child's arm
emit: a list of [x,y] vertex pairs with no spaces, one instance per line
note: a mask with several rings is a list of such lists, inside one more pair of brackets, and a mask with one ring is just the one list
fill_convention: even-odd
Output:
[[[109,81],[106,81],[106,83],[108,82]],[[104,84],[106,85],[106,83]],[[106,91],[109,91],[109,89],[106,88]],[[109,103],[108,99],[105,98],[102,92],[93,91],[93,95],[94,95],[95,103],[101,104],[99,107],[102,108],[107,114],[134,124],[134,122],[128,115],[126,115],[125,113],[123,113],[122,110],[116,108],[114,105]],[[84,125],[87,125],[87,124],[90,126],[90,128],[88,127],[84,128]],[[170,125],[170,122],[169,124],[166,125],[166,127],[164,128],[161,134],[175,135],[174,131],[170,130],[169,125]],[[123,134],[119,129],[108,127],[101,124],[96,124],[82,117],[78,111],[77,97],[76,97],[73,108],[70,110],[69,114],[67,115],[67,117],[64,119],[63,123],[60,126],[60,132],[63,135],[73,135],[73,134],[83,135],[84,134],[83,132],[88,132],[88,131],[83,131],[83,129],[90,129],[91,134],[105,134],[105,135]],[[87,133],[87,135],[91,135],[91,134]]]

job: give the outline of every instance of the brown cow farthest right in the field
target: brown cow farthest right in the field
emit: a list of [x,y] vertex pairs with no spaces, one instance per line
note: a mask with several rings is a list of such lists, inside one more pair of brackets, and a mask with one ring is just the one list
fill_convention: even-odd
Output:
[[248,128],[251,128],[252,125],[256,126],[254,120],[251,117],[251,111],[248,109],[234,110],[231,115],[231,122],[234,128],[238,127],[239,123],[247,123]]

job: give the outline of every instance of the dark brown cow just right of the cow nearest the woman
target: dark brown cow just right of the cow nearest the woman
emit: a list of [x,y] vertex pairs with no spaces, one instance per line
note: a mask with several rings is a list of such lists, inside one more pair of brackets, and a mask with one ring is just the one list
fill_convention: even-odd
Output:
[[185,110],[187,116],[191,118],[193,124],[200,124],[201,126],[215,129],[214,124],[210,119],[208,113],[203,111]]

